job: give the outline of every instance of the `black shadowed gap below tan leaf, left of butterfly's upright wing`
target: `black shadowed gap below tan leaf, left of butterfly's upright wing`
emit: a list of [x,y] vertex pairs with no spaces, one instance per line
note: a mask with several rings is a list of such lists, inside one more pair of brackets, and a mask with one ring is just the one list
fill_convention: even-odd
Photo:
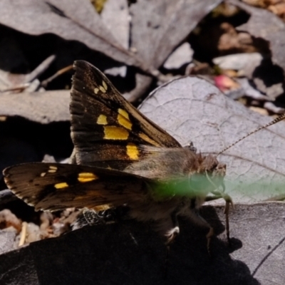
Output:
[[31,122],[20,117],[10,117],[0,122],[1,165],[4,156],[9,162],[4,167],[23,162],[41,161],[43,155],[66,158],[71,155],[71,126],[69,122],[55,122],[46,125]]

